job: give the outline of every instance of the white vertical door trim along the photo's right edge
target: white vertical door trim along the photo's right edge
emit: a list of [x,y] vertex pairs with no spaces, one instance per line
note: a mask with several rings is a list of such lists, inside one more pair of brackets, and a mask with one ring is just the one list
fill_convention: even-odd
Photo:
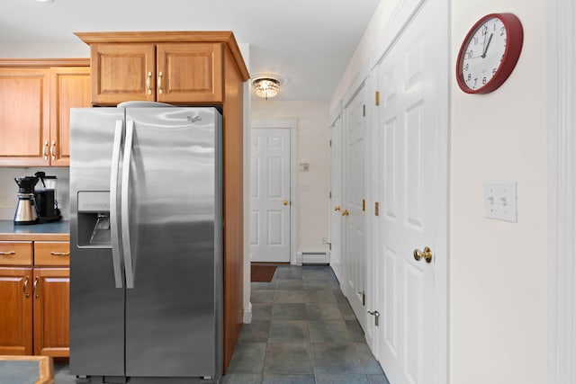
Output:
[[548,1],[548,382],[576,382],[576,6]]

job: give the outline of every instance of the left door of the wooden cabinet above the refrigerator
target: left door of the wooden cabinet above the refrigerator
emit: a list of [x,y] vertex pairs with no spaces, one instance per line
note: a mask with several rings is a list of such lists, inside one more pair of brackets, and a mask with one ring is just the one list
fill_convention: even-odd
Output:
[[91,45],[92,103],[156,100],[156,47],[146,43]]

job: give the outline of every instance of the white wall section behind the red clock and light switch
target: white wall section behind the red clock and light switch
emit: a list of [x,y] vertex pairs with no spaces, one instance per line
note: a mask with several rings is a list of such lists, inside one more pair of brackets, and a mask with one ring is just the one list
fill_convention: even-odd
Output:
[[[546,2],[452,2],[452,64],[486,13],[516,13],[524,47],[508,81],[452,83],[451,378],[546,382]],[[482,181],[518,182],[518,223],[485,219]]]

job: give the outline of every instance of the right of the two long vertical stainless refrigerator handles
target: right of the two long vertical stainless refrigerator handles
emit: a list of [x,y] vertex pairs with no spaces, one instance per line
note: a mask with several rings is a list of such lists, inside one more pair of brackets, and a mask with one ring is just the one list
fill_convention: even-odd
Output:
[[134,288],[134,270],[130,253],[130,217],[128,216],[128,196],[130,196],[130,157],[132,156],[132,139],[134,137],[134,121],[126,123],[126,142],[122,160],[121,182],[121,228],[122,247],[124,251],[124,271],[126,272],[126,288]]

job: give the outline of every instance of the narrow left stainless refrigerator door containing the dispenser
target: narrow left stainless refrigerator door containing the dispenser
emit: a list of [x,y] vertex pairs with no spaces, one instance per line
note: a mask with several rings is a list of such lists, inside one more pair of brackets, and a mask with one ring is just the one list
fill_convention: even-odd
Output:
[[94,241],[94,231],[107,230],[114,129],[123,119],[116,108],[70,112],[70,371],[76,375],[124,374],[124,290],[116,288],[112,246]]

